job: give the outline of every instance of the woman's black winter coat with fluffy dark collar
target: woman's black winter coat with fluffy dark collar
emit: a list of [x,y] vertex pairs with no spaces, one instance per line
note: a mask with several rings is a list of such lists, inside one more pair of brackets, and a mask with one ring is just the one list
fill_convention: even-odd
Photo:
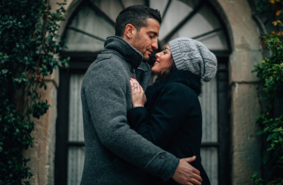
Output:
[[[202,167],[200,148],[202,113],[198,95],[199,77],[189,71],[173,70],[146,91],[145,107],[127,112],[128,122],[138,134],[179,158],[195,155],[190,163],[201,172],[202,184],[210,184]],[[178,184],[172,179],[163,182],[150,176],[151,184]]]

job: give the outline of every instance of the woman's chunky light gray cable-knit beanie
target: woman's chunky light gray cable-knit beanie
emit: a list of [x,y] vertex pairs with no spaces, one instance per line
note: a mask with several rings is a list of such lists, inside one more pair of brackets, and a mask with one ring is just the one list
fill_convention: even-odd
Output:
[[205,82],[212,80],[217,71],[217,59],[201,42],[177,38],[169,42],[176,68],[191,71]]

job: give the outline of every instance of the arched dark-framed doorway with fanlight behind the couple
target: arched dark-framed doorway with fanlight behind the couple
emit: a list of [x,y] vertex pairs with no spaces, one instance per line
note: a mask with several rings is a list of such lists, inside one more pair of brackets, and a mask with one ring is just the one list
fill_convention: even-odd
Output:
[[[203,112],[202,163],[211,184],[229,183],[228,72],[229,40],[224,23],[208,1],[82,1],[70,17],[64,32],[70,57],[68,70],[60,71],[56,141],[56,184],[79,184],[83,159],[83,124],[80,86],[87,67],[103,49],[107,36],[114,35],[114,23],[125,7],[145,4],[160,10],[163,17],[158,42],[187,36],[201,41],[218,58],[217,78],[203,83],[200,97]],[[220,160],[221,159],[221,160]],[[219,178],[221,175],[221,178]]]

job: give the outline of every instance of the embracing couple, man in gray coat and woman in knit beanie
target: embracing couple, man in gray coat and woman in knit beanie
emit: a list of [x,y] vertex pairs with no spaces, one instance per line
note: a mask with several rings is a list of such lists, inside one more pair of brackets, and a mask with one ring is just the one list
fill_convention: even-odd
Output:
[[[85,159],[81,184],[210,184],[202,167],[201,79],[217,60],[189,38],[158,48],[161,16],[136,5],[116,18],[115,36],[81,87]],[[148,86],[152,72],[156,81]],[[145,89],[145,91],[144,91]]]

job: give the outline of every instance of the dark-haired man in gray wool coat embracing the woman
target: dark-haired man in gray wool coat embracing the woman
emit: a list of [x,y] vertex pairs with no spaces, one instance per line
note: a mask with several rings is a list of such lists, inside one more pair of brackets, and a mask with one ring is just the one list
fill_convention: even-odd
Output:
[[[146,6],[131,6],[116,19],[115,35],[89,67],[81,87],[85,161],[81,184],[147,184],[146,173],[182,184],[201,184],[188,162],[155,146],[127,123],[132,107],[130,78],[146,87],[149,60],[157,49],[161,16]],[[138,67],[139,66],[139,67]],[[136,71],[139,76],[136,76]],[[143,77],[143,78],[139,78]],[[141,169],[141,170],[140,170]]]

